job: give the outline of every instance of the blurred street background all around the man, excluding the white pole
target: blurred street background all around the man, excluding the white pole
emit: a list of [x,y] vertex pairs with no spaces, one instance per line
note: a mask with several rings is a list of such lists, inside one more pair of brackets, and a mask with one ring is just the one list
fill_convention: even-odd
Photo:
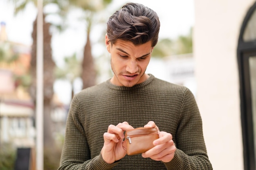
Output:
[[[59,166],[72,97],[112,77],[106,22],[126,2],[159,15],[159,41],[146,72],[193,92],[213,169],[256,169],[254,0],[43,2],[44,170]],[[1,0],[0,22],[0,170],[17,169],[20,154],[32,170],[37,1]]]

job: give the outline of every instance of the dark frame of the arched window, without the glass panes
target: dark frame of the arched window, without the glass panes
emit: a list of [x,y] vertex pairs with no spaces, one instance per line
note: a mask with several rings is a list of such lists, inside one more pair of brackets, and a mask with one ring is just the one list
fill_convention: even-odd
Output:
[[[240,111],[241,111],[241,124],[243,133],[243,157],[244,157],[244,169],[255,170],[255,145],[254,145],[254,126],[252,115],[252,98],[249,77],[249,57],[256,56],[256,39],[252,41],[244,41],[243,35],[245,33],[246,26],[250,21],[253,13],[256,11],[256,2],[248,10],[243,24],[240,29],[240,35],[238,39],[237,59],[239,70],[239,82],[240,82]],[[256,29],[256,28],[255,28]]]

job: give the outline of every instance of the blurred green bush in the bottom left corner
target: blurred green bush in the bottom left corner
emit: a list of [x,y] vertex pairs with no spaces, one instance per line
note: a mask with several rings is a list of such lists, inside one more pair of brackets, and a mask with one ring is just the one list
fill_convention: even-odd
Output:
[[0,145],[0,170],[13,170],[16,150],[9,143],[4,143]]

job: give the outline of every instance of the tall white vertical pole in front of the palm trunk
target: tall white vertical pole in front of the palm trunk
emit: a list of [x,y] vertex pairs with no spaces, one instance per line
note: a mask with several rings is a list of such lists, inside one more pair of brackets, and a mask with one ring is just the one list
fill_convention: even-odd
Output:
[[43,0],[37,0],[36,38],[36,170],[43,170]]

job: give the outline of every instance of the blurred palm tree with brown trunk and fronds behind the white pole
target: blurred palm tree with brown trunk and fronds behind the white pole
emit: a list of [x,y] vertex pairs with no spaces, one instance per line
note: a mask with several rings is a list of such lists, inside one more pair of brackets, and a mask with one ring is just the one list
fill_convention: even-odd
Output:
[[[37,6],[37,0],[10,0],[13,2],[15,8],[15,15],[20,11],[24,10],[28,4],[34,4],[35,7]],[[49,4],[55,4],[59,8],[60,12],[58,15],[61,17],[65,17],[65,14],[68,9],[68,0],[44,0],[43,5],[46,7]],[[52,48],[51,48],[51,41],[52,35],[49,32],[49,27],[51,26],[50,23],[45,22],[45,17],[47,13],[43,14],[43,62],[44,62],[44,146],[45,147],[52,147],[54,144],[54,139],[52,136],[52,120],[50,117],[50,113],[52,111],[52,97],[53,97],[53,83],[54,83],[54,67],[55,63],[52,59]],[[31,77],[32,82],[30,85],[30,95],[31,98],[36,102],[36,25],[37,20],[33,23],[33,44],[31,46]],[[57,26],[61,28],[60,25]]]

